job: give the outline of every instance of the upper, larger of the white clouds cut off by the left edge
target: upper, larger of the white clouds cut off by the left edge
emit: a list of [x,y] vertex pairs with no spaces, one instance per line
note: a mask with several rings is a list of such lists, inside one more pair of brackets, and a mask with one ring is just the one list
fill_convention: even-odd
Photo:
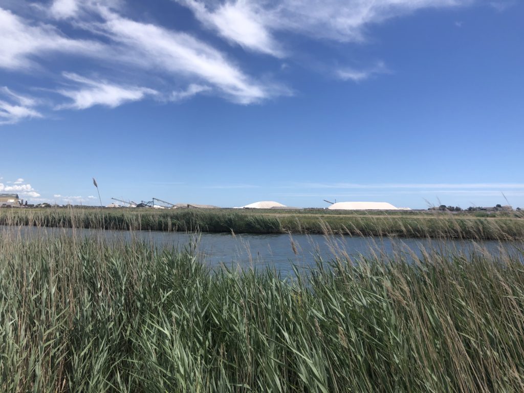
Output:
[[49,52],[82,53],[98,57],[104,45],[65,37],[56,27],[31,25],[0,8],[0,68],[19,70],[35,67],[33,58]]

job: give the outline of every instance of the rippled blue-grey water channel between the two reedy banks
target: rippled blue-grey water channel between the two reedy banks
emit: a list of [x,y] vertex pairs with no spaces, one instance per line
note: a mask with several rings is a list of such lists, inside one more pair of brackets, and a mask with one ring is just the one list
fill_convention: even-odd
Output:
[[79,236],[105,237],[108,241],[122,242],[138,239],[160,247],[183,247],[191,242],[198,242],[198,249],[211,266],[275,267],[282,275],[292,272],[291,265],[312,266],[315,258],[332,259],[335,255],[347,253],[350,257],[358,255],[372,256],[373,253],[402,255],[409,258],[413,253],[421,255],[422,248],[441,250],[460,250],[471,253],[475,248],[483,248],[489,253],[512,252],[521,243],[497,241],[473,242],[460,240],[350,237],[319,234],[242,234],[182,232],[126,232],[101,231],[86,229],[42,228],[42,227],[7,227],[0,226],[2,236],[16,236],[30,239],[38,236]]

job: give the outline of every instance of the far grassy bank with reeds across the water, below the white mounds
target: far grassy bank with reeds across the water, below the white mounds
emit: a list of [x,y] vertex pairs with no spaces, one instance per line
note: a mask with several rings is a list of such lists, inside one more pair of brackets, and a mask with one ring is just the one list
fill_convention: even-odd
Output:
[[[481,216],[479,216],[481,215]],[[234,233],[343,233],[465,239],[523,239],[520,213],[347,212],[232,209],[0,209],[0,225]]]

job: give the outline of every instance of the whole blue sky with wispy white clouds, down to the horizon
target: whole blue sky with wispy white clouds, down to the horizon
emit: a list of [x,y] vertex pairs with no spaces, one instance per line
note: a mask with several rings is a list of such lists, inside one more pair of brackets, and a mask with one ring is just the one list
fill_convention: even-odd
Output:
[[524,208],[523,16],[511,0],[0,0],[0,192],[96,204],[95,177],[104,203]]

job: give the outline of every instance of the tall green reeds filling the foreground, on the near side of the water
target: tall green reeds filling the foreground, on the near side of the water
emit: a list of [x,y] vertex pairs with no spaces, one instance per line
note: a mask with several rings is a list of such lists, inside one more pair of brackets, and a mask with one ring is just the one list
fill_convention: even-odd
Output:
[[213,274],[194,248],[0,237],[0,391],[524,390],[524,255]]

